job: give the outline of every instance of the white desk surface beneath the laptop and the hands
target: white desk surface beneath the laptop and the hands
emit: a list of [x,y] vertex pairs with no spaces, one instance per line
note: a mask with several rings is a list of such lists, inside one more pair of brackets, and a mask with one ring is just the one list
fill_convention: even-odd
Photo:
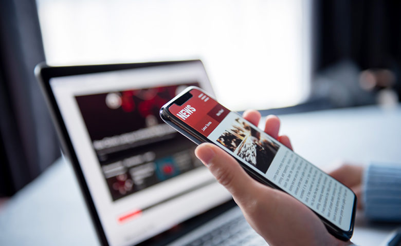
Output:
[[[401,162],[401,106],[361,107],[281,116],[282,134],[320,168],[334,160]],[[400,224],[357,216],[352,241],[379,245]],[[0,245],[98,244],[72,168],[60,159],[0,210]]]

